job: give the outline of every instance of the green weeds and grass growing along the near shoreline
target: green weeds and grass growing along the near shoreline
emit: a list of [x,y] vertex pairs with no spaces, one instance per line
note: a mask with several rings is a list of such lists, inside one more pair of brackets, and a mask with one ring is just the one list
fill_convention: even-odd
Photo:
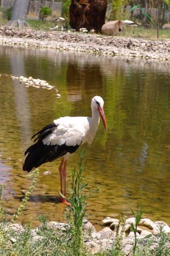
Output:
[[[32,184],[24,196],[20,207],[16,209],[16,213],[9,221],[5,210],[1,208],[2,186],[0,188],[0,254],[5,256],[38,256],[38,255],[60,255],[60,256],[90,256],[92,253],[85,246],[84,239],[90,239],[89,235],[84,232],[83,218],[86,212],[86,199],[91,195],[87,189],[87,183],[82,181],[82,172],[84,167],[82,162],[84,153],[81,154],[78,170],[74,169],[72,173],[72,185],[69,188],[71,203],[67,207],[67,219],[69,225],[65,228],[53,229],[48,225],[48,219],[44,215],[40,215],[38,220],[42,224],[36,229],[36,238],[33,236],[34,230],[31,230],[31,221],[22,228],[20,232],[14,229],[14,221],[17,220],[22,210],[26,208],[26,203],[33,192],[36,181],[39,176],[39,170],[36,169],[30,177]],[[87,191],[86,193],[84,192]],[[94,191],[96,192],[96,191]],[[132,211],[133,214],[134,211]],[[160,232],[155,237],[144,237],[138,240],[136,230],[140,222],[142,212],[138,210],[135,216],[135,226],[131,224],[131,230],[134,232],[135,240],[132,246],[131,255],[133,256],[168,256],[170,249],[167,243],[170,242],[170,236],[163,232],[163,227],[160,227]],[[123,252],[123,234],[125,233],[125,217],[115,228],[115,239],[111,249],[100,251],[96,256],[124,256]],[[88,236],[88,237],[87,237]]]

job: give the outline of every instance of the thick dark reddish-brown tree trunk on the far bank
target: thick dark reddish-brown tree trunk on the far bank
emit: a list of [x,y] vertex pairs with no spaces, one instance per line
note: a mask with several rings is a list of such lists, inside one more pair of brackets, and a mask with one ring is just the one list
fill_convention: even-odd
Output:
[[72,0],[70,6],[70,25],[76,30],[84,27],[101,32],[105,23],[107,0]]

